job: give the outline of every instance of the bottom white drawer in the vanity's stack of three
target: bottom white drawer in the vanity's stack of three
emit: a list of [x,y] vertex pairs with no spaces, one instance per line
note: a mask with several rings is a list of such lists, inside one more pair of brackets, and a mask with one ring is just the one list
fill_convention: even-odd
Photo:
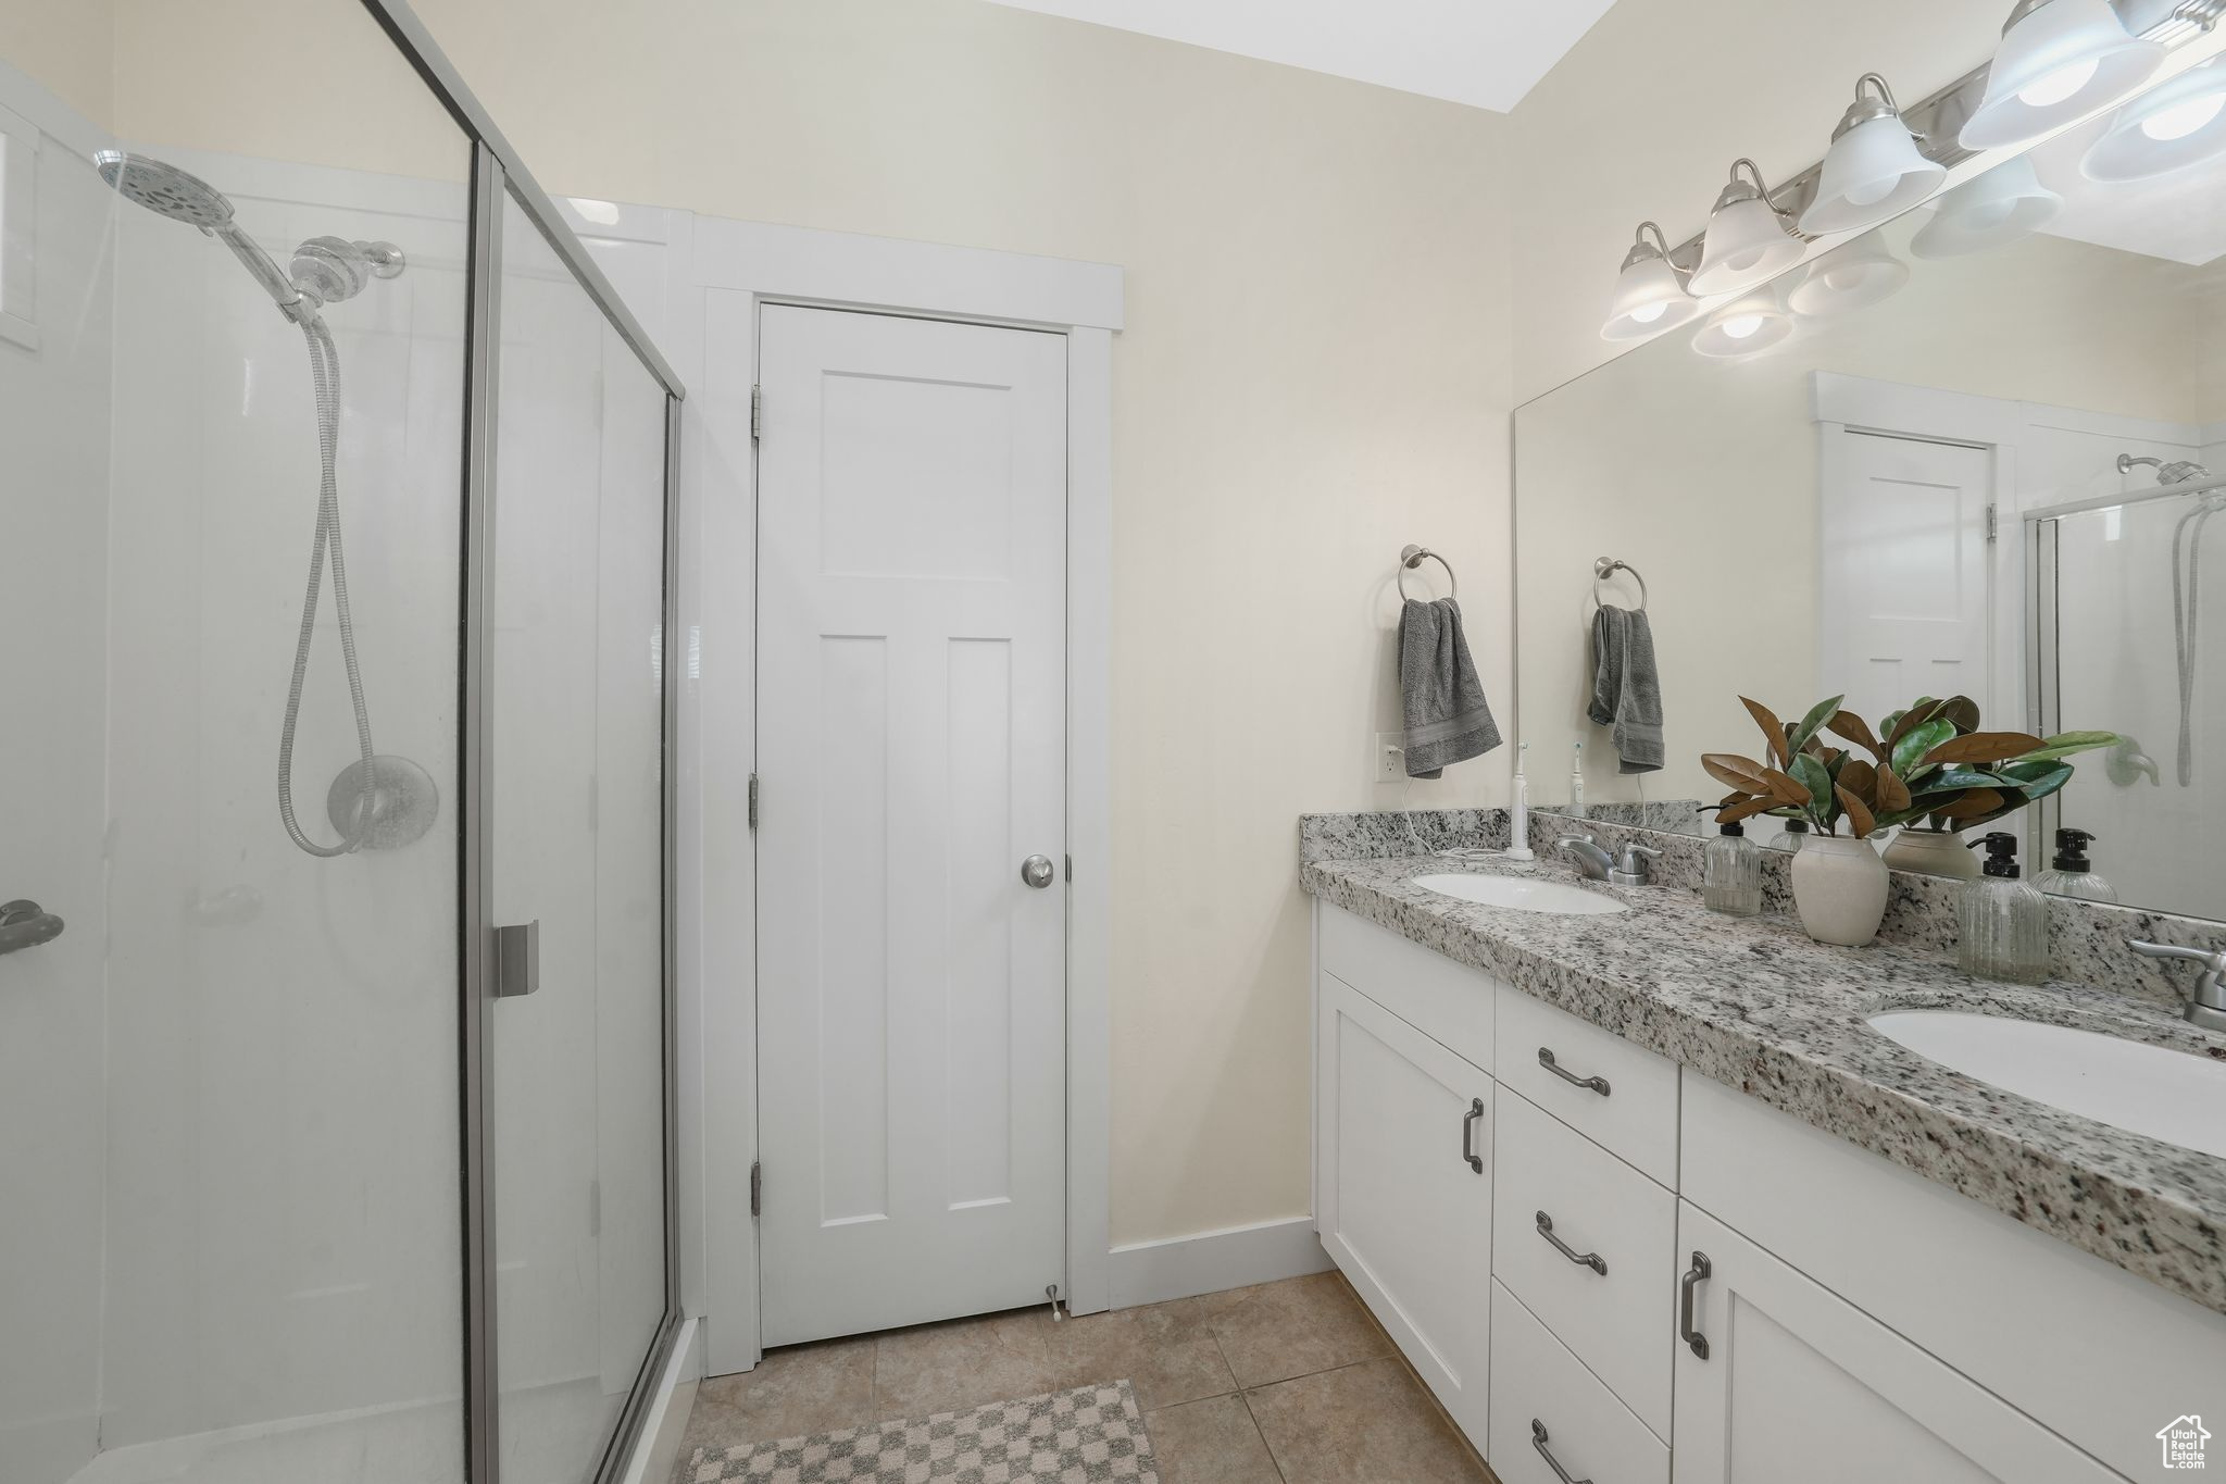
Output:
[[[1534,1422],[1545,1426],[1560,1477],[1538,1451]],[[1485,1462],[1500,1484],[1670,1484],[1670,1446],[1496,1282]]]

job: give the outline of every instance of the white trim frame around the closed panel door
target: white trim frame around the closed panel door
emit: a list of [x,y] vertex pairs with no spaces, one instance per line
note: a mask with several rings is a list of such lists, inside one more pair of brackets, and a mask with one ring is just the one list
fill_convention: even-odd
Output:
[[[757,850],[739,828],[757,759],[750,392],[764,305],[1066,338],[1066,1304],[1071,1313],[1097,1313],[1111,1302],[1113,336],[1124,320],[1122,269],[721,218],[697,218],[683,256],[677,318],[699,327],[703,363],[697,396],[683,405],[692,423],[683,481],[701,530],[692,532],[697,556],[681,576],[697,616],[695,705],[681,730],[699,741],[703,759],[706,828],[699,859],[688,863],[699,872],[703,910],[683,954],[699,954],[703,970],[706,1373],[748,1371],[764,1353],[750,1215],[750,1166],[759,1155]],[[703,552],[721,554],[717,583],[708,581]],[[732,848],[737,839],[750,839],[750,848]]]

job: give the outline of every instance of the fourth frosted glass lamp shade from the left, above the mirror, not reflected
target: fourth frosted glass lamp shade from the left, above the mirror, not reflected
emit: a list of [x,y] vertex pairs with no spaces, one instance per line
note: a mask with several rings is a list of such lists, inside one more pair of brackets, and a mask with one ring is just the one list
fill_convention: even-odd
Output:
[[2108,0],[2043,0],[2001,33],[1961,145],[2023,145],[2124,98],[2161,65],[2164,47],[2133,36]]

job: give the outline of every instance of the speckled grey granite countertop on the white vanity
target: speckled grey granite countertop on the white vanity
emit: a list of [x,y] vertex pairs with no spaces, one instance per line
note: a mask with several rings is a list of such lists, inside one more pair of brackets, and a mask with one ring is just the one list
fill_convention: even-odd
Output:
[[[1414,886],[1520,874],[1632,908],[1554,917]],[[1672,886],[1609,888],[1567,865],[1447,857],[1307,859],[1322,901],[1485,970],[1925,1179],[2226,1313],[2226,1159],[2003,1092],[1888,1041],[1865,1017],[1954,1008],[2104,1030],[2226,1059],[2226,1037],[2124,995],[1966,977],[1937,950],[1825,948],[1785,917],[1707,912]],[[2226,1115],[2222,1115],[2226,1117]]]

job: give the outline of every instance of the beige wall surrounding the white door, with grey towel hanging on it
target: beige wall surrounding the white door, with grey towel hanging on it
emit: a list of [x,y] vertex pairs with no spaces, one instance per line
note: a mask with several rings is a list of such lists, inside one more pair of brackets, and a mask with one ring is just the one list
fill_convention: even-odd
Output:
[[[1113,1239],[1304,1215],[1296,819],[1400,801],[1369,772],[1398,725],[1400,545],[1460,570],[1487,692],[1514,705],[1507,120],[982,0],[416,9],[552,191],[1126,269]],[[196,18],[252,38],[283,0],[125,11],[127,133],[285,151],[240,138],[240,96],[265,120],[381,98],[376,73],[274,73],[252,40],[180,85]],[[407,133],[352,131],[345,162],[454,169]],[[1500,801],[1507,770],[1414,803]]]

